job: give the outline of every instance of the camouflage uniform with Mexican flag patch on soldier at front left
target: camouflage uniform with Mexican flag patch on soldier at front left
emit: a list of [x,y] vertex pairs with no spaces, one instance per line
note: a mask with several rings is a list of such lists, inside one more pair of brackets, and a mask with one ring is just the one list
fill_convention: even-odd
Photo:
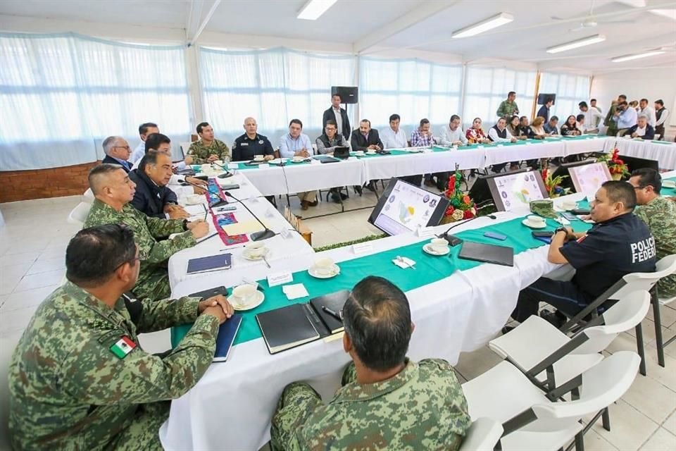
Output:
[[[9,428],[15,450],[161,450],[169,400],[187,393],[213,359],[218,319],[198,301],[144,299],[115,308],[67,282],[42,302],[9,368]],[[192,323],[163,356],[137,333]],[[136,347],[118,357],[122,337]]]

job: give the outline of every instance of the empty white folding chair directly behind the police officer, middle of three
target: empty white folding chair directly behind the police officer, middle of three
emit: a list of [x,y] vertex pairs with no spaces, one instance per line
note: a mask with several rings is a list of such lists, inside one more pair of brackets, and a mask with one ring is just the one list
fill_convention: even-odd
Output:
[[[598,364],[603,358],[599,352],[620,333],[641,323],[649,307],[648,292],[629,293],[603,312],[596,320],[602,321],[601,325],[587,326],[572,338],[548,321],[532,315],[511,332],[491,340],[488,346],[541,383],[548,381],[545,369],[551,365],[553,374],[549,375],[548,381],[551,390]],[[548,357],[551,357],[549,362]]]

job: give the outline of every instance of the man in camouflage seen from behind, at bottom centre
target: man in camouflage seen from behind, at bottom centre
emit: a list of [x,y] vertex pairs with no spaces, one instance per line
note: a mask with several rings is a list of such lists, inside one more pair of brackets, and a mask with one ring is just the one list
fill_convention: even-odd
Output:
[[453,368],[405,355],[413,324],[406,295],[384,278],[361,280],[343,308],[353,359],[323,404],[306,383],[284,388],[270,430],[278,450],[458,450],[470,426]]

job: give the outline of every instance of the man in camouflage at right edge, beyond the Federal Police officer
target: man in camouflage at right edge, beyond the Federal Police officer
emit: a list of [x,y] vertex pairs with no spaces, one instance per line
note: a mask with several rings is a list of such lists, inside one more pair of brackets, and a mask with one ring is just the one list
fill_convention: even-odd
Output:
[[[662,177],[650,168],[632,172],[629,183],[634,185],[639,206],[634,214],[641,218],[655,238],[657,258],[676,254],[676,202],[662,197]],[[676,274],[663,277],[657,283],[659,297],[676,296]]]

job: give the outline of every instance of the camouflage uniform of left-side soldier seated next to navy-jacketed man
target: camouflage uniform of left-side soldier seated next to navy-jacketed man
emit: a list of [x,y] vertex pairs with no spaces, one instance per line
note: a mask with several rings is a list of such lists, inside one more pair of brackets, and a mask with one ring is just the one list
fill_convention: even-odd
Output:
[[[141,270],[139,280],[134,286],[134,295],[162,299],[169,297],[169,273],[167,261],[176,252],[195,245],[191,232],[183,232],[182,219],[151,218],[126,204],[122,211],[94,199],[84,227],[101,226],[102,224],[125,224],[134,231],[134,241],[139,247]],[[172,233],[181,233],[172,240],[164,240]],[[162,241],[158,241],[162,239]]]

